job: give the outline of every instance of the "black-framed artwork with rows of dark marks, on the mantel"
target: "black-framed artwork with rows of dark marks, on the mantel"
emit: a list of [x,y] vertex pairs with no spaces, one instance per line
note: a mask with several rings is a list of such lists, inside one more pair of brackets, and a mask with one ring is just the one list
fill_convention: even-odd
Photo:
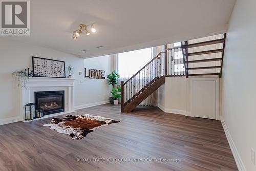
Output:
[[34,76],[66,78],[65,61],[32,56]]

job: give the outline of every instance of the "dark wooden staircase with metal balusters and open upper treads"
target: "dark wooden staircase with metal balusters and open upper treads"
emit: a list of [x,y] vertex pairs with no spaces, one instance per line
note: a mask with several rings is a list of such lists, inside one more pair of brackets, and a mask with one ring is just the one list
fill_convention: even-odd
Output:
[[[167,48],[165,45],[165,52],[156,55],[127,81],[121,81],[121,112],[133,111],[165,83],[165,77],[218,75],[221,78],[225,39],[226,34],[220,39],[193,44],[182,41],[179,47]],[[194,52],[197,47],[207,49],[209,45],[222,48]],[[209,57],[209,54],[220,57]]]

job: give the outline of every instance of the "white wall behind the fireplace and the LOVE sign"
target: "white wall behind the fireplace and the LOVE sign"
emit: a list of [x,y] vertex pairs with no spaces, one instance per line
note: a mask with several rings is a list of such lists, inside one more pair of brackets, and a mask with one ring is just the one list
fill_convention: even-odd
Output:
[[[81,107],[91,103],[106,102],[109,97],[109,86],[106,80],[84,79],[84,60],[69,53],[63,53],[52,49],[23,44],[17,41],[0,39],[0,123],[8,121],[8,118],[18,116],[19,88],[17,81],[12,77],[14,71],[25,68],[32,68],[32,57],[44,57],[50,59],[63,60],[66,65],[75,67],[73,74],[77,80],[74,84],[74,105]],[[112,63],[110,57],[98,57],[88,59],[90,65],[96,69],[105,70],[105,77],[111,71]],[[82,75],[78,75],[82,72]],[[81,82],[82,81],[82,82]],[[97,92],[97,95],[95,93]]]

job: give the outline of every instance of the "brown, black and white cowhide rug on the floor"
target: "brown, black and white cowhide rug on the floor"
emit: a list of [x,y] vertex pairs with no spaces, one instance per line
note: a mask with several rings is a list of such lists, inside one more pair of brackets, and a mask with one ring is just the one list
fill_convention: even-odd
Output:
[[53,118],[52,121],[44,126],[51,126],[51,130],[56,130],[61,134],[68,134],[74,140],[79,140],[90,132],[101,126],[120,122],[111,118],[104,118],[93,115],[67,115],[66,118]]

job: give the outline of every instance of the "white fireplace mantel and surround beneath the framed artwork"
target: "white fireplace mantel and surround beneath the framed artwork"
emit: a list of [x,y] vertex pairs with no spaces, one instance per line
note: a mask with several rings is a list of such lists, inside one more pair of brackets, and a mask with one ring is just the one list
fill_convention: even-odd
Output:
[[[74,81],[74,78],[28,77],[25,87],[20,90],[20,119],[24,121],[25,104],[34,103],[34,94],[40,91],[65,91],[65,112],[59,114],[75,112]],[[47,116],[55,116],[55,114]]]

